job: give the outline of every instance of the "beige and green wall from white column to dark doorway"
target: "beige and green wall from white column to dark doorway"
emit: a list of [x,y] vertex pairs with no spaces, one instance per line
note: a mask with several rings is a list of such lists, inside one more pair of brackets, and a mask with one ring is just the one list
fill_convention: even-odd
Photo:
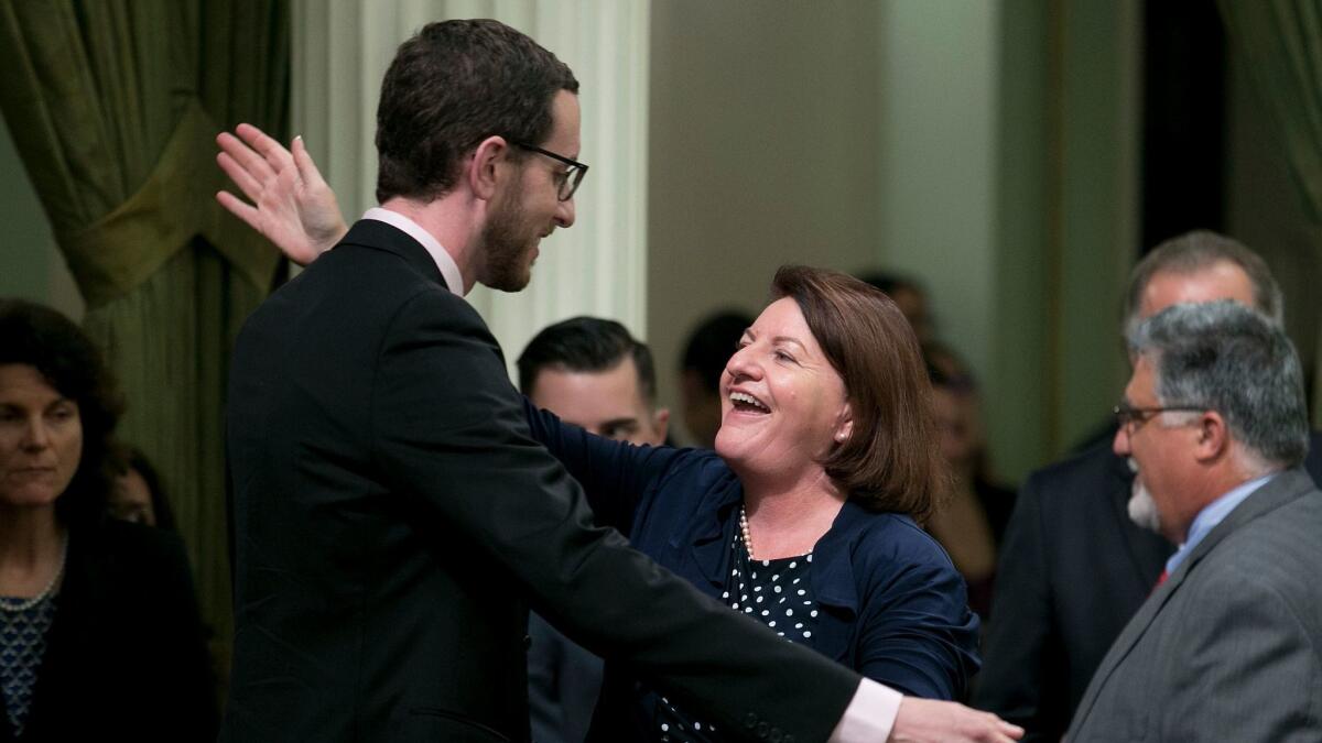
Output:
[[662,402],[693,323],[775,266],[929,290],[1010,479],[1101,424],[1136,245],[1137,0],[653,5],[648,327]]

